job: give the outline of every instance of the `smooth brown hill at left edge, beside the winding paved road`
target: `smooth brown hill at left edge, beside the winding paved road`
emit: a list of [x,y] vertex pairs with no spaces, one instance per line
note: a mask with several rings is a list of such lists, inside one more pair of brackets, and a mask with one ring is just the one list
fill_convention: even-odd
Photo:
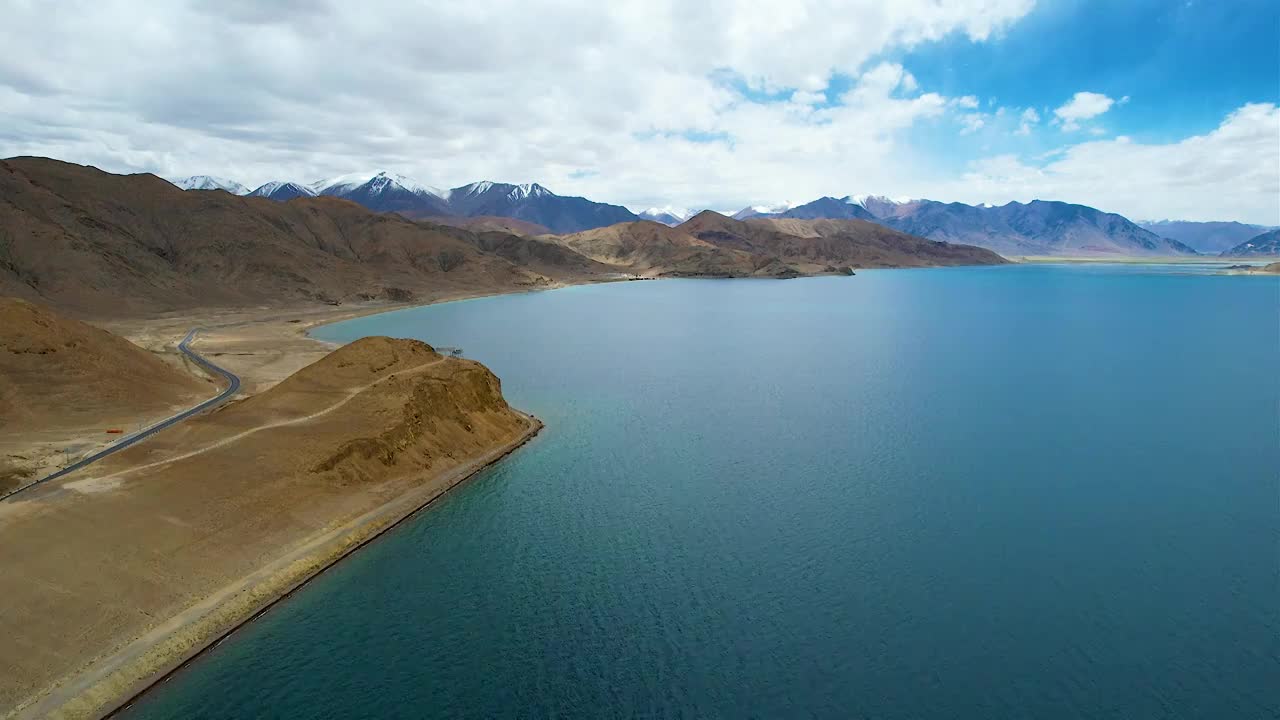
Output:
[[212,393],[211,383],[122,337],[0,297],[0,433],[105,428]]

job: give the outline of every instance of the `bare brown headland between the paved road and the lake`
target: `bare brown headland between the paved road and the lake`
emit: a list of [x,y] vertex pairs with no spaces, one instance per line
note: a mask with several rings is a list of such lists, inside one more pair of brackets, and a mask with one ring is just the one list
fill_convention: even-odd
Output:
[[425,343],[300,337],[289,372],[264,328],[215,337],[266,389],[0,505],[0,707],[109,711],[540,427]]

